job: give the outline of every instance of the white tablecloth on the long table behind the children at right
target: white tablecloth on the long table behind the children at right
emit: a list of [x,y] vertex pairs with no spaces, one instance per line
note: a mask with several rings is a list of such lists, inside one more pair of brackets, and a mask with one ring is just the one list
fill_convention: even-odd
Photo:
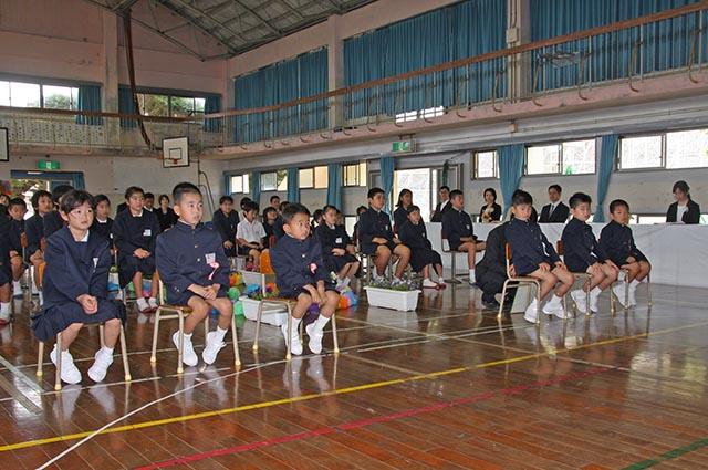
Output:
[[[440,223],[428,223],[428,237],[433,247],[442,253]],[[595,237],[604,223],[591,223]],[[486,240],[498,227],[496,223],[475,223],[475,234]],[[555,247],[563,232],[562,223],[542,223],[541,229]],[[658,284],[708,288],[708,226],[684,226],[660,223],[655,226],[631,226],[634,241],[652,263],[652,282]],[[477,254],[481,260],[482,253]],[[442,254],[442,263],[450,267],[450,257]],[[706,263],[706,264],[704,264]],[[467,268],[465,257],[457,257],[457,270]]]

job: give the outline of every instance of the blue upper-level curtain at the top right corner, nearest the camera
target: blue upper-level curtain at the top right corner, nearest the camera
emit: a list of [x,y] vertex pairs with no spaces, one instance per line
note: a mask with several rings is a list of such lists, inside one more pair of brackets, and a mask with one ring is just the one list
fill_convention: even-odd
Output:
[[[644,17],[658,11],[684,7],[699,0],[531,0],[531,41],[582,31],[590,28]],[[653,73],[684,67],[695,29],[706,29],[708,18],[695,13],[688,18],[665,20],[631,31],[602,34],[587,41],[570,41],[549,48],[545,58],[534,55],[530,73],[543,61],[539,84],[546,90],[575,86],[580,73],[580,54],[592,52],[585,65],[583,81],[593,82],[628,76],[634,44],[643,45],[634,64],[634,73]],[[553,59],[561,52],[577,54],[572,60]],[[698,52],[697,52],[698,53]],[[708,56],[702,50],[704,60]],[[696,61],[700,58],[696,56]]]

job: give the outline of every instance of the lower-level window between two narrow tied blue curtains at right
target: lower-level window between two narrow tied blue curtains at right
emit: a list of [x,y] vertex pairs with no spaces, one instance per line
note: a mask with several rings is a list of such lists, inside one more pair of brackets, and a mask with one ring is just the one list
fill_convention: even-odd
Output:
[[527,147],[527,175],[595,173],[595,140]]

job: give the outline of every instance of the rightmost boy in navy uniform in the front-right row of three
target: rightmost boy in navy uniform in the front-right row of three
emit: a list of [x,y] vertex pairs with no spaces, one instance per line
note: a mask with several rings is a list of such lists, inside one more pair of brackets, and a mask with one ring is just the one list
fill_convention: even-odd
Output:
[[[633,306],[637,304],[635,291],[637,285],[649,275],[652,264],[642,251],[634,244],[629,222],[629,205],[622,199],[615,199],[610,203],[610,217],[612,221],[607,223],[600,233],[600,244],[605,249],[607,255],[616,265],[628,271],[627,281],[629,283],[628,302]],[[613,288],[621,303],[625,301],[624,284]]]

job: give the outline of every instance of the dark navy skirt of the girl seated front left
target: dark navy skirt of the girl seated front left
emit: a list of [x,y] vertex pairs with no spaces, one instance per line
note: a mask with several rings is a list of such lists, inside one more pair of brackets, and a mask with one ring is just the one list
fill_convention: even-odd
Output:
[[125,325],[125,305],[121,301],[98,299],[98,311],[92,315],[84,312],[77,302],[66,302],[44,309],[32,317],[32,330],[39,341],[49,341],[73,323],[103,323],[119,318]]

